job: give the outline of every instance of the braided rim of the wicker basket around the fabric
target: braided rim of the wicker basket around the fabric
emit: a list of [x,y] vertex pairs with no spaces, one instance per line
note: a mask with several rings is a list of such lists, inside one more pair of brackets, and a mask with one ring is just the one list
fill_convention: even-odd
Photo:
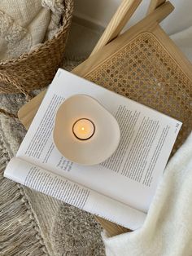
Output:
[[7,65],[7,64],[15,64],[17,61],[20,60],[24,60],[24,59],[28,59],[28,56],[33,55],[35,52],[37,51],[41,51],[42,48],[44,48],[45,46],[47,46],[48,44],[50,44],[50,42],[53,42],[56,38],[59,37],[59,35],[61,33],[63,33],[63,30],[66,29],[68,27],[68,25],[71,22],[71,16],[72,16],[72,11],[73,11],[73,1],[72,0],[65,0],[63,2],[63,4],[66,4],[65,9],[63,11],[63,17],[62,20],[65,21],[66,16],[68,16],[69,18],[67,19],[66,24],[62,24],[59,27],[59,31],[54,35],[53,38],[46,40],[46,42],[42,42],[40,46],[38,46],[37,48],[33,49],[32,51],[28,51],[25,52],[23,54],[21,54],[19,57],[17,58],[11,58],[9,60],[0,60],[0,68],[1,66]]

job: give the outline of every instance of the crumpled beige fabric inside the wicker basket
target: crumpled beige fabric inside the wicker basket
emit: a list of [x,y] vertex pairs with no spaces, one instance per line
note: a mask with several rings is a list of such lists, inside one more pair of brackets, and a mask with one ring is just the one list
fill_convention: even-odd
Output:
[[62,0],[2,0],[0,61],[32,50],[58,32]]

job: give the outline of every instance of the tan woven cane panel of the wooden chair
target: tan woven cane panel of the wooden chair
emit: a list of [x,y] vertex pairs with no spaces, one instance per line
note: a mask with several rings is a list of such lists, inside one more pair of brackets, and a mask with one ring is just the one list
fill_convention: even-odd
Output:
[[192,83],[152,33],[140,33],[85,78],[182,121],[172,152],[190,134]]

